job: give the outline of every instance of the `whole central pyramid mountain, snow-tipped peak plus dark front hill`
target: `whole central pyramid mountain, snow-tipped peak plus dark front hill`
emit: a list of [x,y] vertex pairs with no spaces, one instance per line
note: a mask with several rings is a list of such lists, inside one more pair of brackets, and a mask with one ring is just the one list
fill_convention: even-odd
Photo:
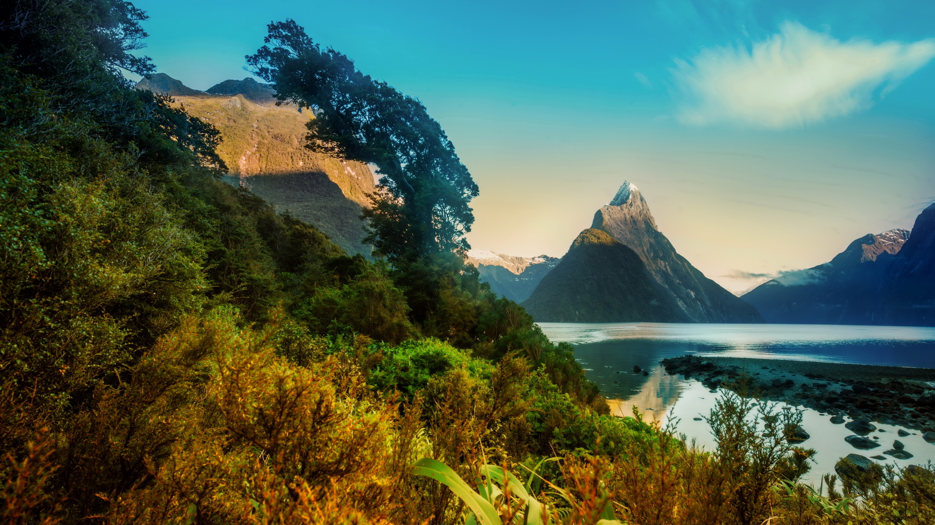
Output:
[[762,321],[675,251],[628,181],[523,305],[543,322]]

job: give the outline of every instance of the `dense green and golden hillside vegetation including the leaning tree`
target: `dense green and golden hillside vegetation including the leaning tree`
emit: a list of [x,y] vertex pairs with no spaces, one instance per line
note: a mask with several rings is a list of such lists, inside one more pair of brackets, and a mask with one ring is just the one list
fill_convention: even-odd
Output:
[[248,64],[314,110],[310,149],[379,167],[377,262],[223,183],[218,132],[131,88],[155,71],[136,7],[0,17],[5,523],[935,517],[924,468],[798,484],[796,415],[748,397],[719,402],[707,452],[609,415],[573,348],[465,264],[478,188],[439,123],[295,22]]

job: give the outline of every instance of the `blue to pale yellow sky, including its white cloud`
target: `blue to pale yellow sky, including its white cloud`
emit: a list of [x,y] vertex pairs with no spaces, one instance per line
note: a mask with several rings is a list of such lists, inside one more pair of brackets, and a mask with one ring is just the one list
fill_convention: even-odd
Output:
[[624,180],[743,291],[935,201],[935,2],[139,0],[158,71],[245,78],[266,23],[421,100],[481,189],[472,248],[563,255]]

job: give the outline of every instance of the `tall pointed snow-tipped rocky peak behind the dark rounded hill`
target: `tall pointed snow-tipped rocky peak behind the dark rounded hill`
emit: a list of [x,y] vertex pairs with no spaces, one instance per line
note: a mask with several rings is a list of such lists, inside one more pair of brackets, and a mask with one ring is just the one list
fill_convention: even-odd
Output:
[[659,232],[646,200],[625,181],[611,204],[597,210],[591,228],[632,249],[687,322],[761,322],[755,308],[704,277]]

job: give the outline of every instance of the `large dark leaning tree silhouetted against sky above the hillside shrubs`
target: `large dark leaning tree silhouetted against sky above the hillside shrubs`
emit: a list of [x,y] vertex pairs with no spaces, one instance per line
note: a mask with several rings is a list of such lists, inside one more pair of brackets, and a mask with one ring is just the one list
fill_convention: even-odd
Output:
[[268,30],[247,62],[275,85],[279,103],[314,112],[307,147],[378,167],[380,192],[366,213],[374,246],[395,263],[463,255],[477,184],[422,103],[364,75],[337,50],[322,50],[295,21]]

